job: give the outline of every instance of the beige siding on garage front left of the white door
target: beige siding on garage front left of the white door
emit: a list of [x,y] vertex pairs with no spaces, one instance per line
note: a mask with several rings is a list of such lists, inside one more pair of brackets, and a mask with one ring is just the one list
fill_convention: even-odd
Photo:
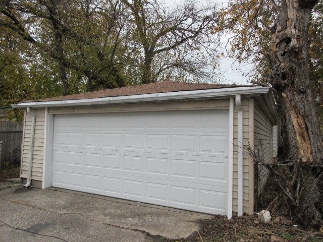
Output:
[[[42,167],[43,167],[43,153],[44,153],[44,127],[45,127],[45,109],[44,108],[32,108],[32,112],[36,115],[35,120],[35,136],[34,147],[32,156],[32,173],[31,179],[42,180]],[[22,165],[21,165],[21,177],[28,177],[28,164],[29,164],[29,152],[31,142],[31,125],[32,116],[26,113],[25,118],[25,130],[24,130],[24,143],[22,152]]]

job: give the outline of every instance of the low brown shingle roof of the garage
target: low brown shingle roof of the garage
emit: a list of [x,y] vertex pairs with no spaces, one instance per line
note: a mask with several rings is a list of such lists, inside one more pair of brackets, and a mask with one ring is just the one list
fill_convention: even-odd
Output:
[[[63,101],[63,100],[81,100],[102,97],[132,96],[151,93],[193,91],[203,89],[218,89],[232,87],[246,87],[247,85],[227,85],[227,84],[208,84],[208,83],[186,83],[186,82],[155,82],[144,85],[121,87],[115,89],[106,89],[95,92],[86,92],[74,95],[51,97],[38,100],[28,100],[23,102],[42,102],[42,101]],[[22,102],[22,103],[23,103]]]

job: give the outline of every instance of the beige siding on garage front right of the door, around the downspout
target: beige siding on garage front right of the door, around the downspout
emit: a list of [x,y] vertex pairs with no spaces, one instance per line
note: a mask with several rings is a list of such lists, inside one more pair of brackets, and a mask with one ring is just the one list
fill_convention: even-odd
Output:
[[[250,115],[253,115],[253,108],[250,109],[250,100],[242,99],[243,111],[243,144],[238,144],[238,112],[237,107],[234,105],[234,133],[233,133],[233,209],[238,210],[238,146],[248,147],[253,137],[250,136]],[[252,124],[251,124],[252,125]],[[243,212],[253,214],[253,165],[250,162],[249,155],[244,152],[243,155]]]

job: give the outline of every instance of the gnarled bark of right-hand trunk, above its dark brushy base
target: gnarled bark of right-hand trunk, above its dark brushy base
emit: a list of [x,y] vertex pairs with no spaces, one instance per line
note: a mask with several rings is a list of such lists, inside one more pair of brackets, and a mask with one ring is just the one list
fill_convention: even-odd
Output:
[[282,0],[271,42],[272,72],[289,139],[289,156],[304,163],[321,162],[323,139],[309,80],[308,27],[317,1]]

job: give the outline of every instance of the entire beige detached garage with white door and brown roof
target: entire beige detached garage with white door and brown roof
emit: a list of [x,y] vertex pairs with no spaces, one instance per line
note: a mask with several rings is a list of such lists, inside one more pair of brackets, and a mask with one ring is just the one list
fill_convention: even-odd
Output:
[[[270,87],[156,82],[22,101],[24,187],[209,214],[253,214],[254,160],[273,158]],[[259,179],[262,179],[261,177]]]

